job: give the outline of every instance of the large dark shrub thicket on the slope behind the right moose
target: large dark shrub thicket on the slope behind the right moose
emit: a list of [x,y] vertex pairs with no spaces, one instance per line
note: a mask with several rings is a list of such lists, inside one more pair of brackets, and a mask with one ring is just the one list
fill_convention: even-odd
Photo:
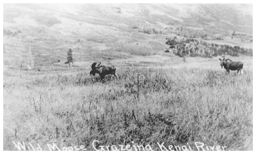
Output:
[[239,56],[239,54],[252,56],[252,48],[240,48],[239,46],[230,46],[222,44],[209,44],[206,41],[194,38],[187,38],[178,40],[177,37],[173,39],[167,38],[166,44],[170,45],[173,53],[184,57],[213,57],[222,54],[229,54],[231,56]]

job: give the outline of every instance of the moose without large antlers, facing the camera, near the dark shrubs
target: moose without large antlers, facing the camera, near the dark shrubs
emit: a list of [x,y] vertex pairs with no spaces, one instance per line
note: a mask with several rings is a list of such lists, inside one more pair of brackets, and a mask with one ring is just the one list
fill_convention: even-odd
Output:
[[[219,58],[220,59],[220,58]],[[230,74],[230,70],[237,70],[237,74],[240,73],[243,75],[243,62],[233,62],[230,59],[226,59],[223,58],[223,60],[221,60],[221,68],[222,66],[224,66],[224,68],[226,69],[226,74],[227,72],[229,72]]]

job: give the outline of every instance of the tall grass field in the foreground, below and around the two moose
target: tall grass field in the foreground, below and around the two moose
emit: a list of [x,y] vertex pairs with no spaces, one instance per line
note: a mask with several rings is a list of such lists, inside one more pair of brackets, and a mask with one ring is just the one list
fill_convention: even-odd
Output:
[[[4,147],[191,145],[252,149],[252,71],[120,68],[120,81],[88,73],[5,84]],[[12,89],[10,91],[10,89]],[[97,148],[99,148],[97,145]]]

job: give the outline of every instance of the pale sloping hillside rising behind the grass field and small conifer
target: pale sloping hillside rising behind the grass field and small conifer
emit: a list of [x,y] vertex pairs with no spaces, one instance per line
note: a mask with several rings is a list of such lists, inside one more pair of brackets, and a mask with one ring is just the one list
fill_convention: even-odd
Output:
[[4,4],[4,65],[26,66],[28,57],[34,66],[53,65],[65,61],[69,48],[75,62],[161,54],[165,38],[177,36],[180,27],[205,33],[213,43],[252,48],[250,37],[231,39],[234,31],[252,35],[252,5]]

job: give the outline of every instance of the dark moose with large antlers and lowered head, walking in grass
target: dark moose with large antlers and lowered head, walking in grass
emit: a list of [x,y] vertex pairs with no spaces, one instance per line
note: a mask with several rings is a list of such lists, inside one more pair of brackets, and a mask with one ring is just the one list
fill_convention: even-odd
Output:
[[[106,75],[115,75],[115,77],[119,80],[118,75],[115,73],[115,66],[100,66],[101,62],[97,65],[97,62],[93,62],[91,65],[92,70],[90,71],[90,75],[95,75],[95,73],[99,74],[101,77],[101,81],[105,81],[104,78]],[[96,67],[97,65],[97,67]],[[106,82],[106,81],[105,81]]]

